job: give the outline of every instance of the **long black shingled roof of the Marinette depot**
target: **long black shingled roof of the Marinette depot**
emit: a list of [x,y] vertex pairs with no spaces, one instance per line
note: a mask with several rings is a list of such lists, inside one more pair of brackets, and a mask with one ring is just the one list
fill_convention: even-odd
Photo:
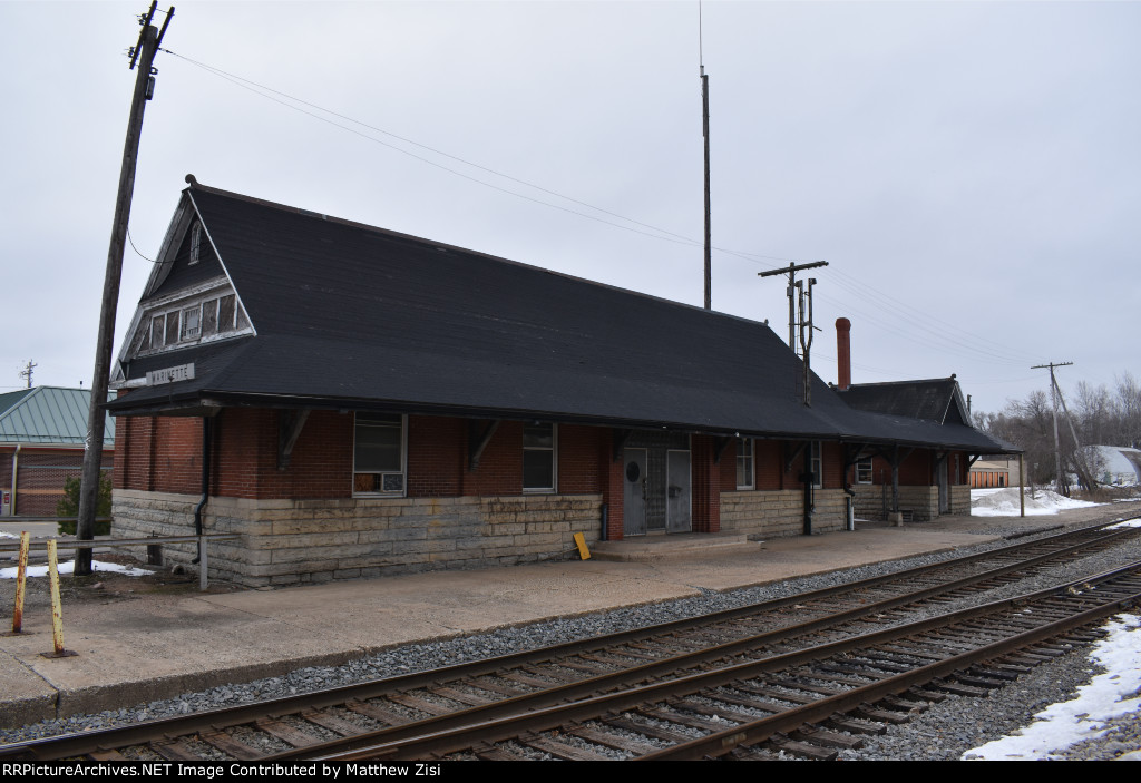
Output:
[[195,377],[132,389],[116,414],[388,408],[1004,450],[853,410],[815,375],[806,407],[800,359],[763,324],[197,183],[184,199],[256,336],[129,361],[128,382],[189,362]]

